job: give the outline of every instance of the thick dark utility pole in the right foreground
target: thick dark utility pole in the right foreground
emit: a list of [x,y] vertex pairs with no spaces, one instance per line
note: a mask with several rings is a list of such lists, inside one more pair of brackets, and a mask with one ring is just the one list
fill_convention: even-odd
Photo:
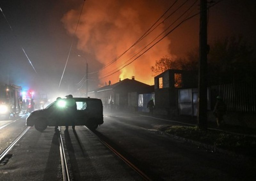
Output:
[[198,109],[199,128],[207,127],[207,0],[200,0]]

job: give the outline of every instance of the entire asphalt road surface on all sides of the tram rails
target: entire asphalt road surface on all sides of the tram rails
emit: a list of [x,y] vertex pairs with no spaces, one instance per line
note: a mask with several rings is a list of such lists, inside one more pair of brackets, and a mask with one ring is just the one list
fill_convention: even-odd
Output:
[[[24,118],[1,122],[1,152],[25,128]],[[7,125],[8,124],[8,125]],[[214,153],[160,135],[170,122],[134,114],[105,113],[94,132],[152,180],[255,180],[255,163]],[[7,125],[7,126],[4,126]],[[3,127],[4,126],[4,127]],[[82,126],[62,137],[74,180],[143,180]],[[54,127],[31,127],[0,163],[0,180],[62,180]]]

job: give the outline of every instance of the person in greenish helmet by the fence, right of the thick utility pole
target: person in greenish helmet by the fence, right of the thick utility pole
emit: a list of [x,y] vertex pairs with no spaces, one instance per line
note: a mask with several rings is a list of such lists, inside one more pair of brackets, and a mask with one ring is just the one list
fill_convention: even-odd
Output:
[[222,127],[224,125],[224,119],[223,116],[227,111],[226,104],[224,103],[221,96],[217,96],[217,101],[214,106],[213,113],[216,117],[217,125],[218,127]]

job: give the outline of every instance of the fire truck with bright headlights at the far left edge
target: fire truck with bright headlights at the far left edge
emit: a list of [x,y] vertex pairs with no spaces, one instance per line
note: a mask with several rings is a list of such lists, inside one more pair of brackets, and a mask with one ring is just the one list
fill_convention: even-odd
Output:
[[14,84],[0,85],[0,119],[16,117],[21,111],[22,87]]

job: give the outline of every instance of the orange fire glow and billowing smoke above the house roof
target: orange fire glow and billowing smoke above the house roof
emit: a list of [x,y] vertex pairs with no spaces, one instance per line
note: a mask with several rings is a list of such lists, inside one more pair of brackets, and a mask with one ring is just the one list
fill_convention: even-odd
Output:
[[[84,54],[93,54],[95,57],[95,60],[88,60],[91,69],[100,69],[100,67],[93,65],[94,61],[98,61],[104,66],[124,53],[155,23],[164,12],[164,9],[157,6],[157,4],[153,4],[156,2],[146,0],[86,1],[76,36],[78,38],[77,48],[83,51]],[[71,34],[75,32],[80,10],[81,7],[76,10],[70,10],[62,18],[65,28]],[[138,55],[135,54],[163,30],[164,27],[159,26],[154,33],[140,41],[120,59],[106,69],[101,70],[98,75],[99,78],[110,75],[134,60],[146,49]],[[108,83],[109,80],[112,83],[116,83],[119,78],[121,80],[125,78],[131,79],[132,76],[135,76],[138,81],[154,84],[150,67],[155,65],[156,60],[169,55],[169,45],[170,40],[165,38],[124,69],[106,78],[101,78],[100,82],[105,85],[105,82]],[[132,56],[134,57],[131,58]],[[131,60],[128,61],[129,59]]]

